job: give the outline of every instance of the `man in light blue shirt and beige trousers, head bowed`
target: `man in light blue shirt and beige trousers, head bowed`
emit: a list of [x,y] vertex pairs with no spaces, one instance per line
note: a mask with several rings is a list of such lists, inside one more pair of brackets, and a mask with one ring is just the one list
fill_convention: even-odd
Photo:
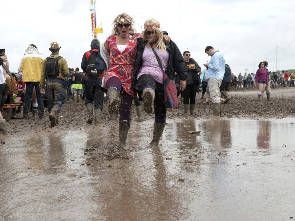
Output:
[[214,116],[221,116],[222,108],[219,87],[225,72],[224,57],[221,52],[215,50],[212,46],[207,46],[205,48],[205,53],[212,57],[209,63],[203,65],[208,69],[206,79],[209,86],[210,98],[213,103],[213,114]]

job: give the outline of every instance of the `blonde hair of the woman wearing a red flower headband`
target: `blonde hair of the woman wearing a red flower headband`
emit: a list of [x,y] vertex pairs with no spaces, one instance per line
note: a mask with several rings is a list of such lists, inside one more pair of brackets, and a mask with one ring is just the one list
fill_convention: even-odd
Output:
[[153,29],[153,34],[152,34],[152,38],[149,40],[149,42],[152,42],[154,40],[156,40],[156,45],[157,47],[160,48],[160,50],[165,51],[166,50],[166,45],[163,42],[163,32],[160,29],[160,23],[157,19],[152,18],[152,19],[148,19],[145,21],[144,23],[145,29],[144,31],[141,33],[141,36],[143,39],[148,40],[148,37],[146,35],[146,29],[148,27],[151,27]]

